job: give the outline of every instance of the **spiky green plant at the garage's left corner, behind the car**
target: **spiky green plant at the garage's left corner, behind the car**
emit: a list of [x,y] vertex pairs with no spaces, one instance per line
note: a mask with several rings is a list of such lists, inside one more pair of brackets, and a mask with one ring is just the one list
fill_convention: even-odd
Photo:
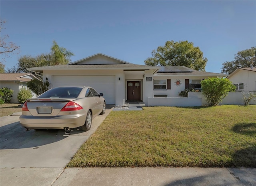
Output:
[[34,92],[36,95],[41,95],[42,93],[46,92],[50,86],[50,82],[47,80],[42,82],[38,79],[33,79],[27,82],[28,89]]

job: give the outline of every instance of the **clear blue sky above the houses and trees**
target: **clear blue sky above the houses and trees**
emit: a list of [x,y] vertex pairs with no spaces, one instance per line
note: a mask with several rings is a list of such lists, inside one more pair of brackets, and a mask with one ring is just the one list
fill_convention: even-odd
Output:
[[52,41],[71,50],[72,61],[103,53],[144,64],[168,40],[188,40],[208,58],[207,72],[256,46],[256,1],[0,1],[1,35],[23,55],[50,52]]

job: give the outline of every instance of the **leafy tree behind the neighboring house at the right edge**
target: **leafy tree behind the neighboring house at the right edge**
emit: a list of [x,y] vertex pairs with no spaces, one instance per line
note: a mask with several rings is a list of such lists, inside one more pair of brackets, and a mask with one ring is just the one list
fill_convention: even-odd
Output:
[[236,70],[236,68],[256,66],[255,53],[256,53],[256,47],[252,47],[252,48],[237,52],[237,54],[235,54],[234,60],[226,61],[222,63],[221,73],[231,74]]

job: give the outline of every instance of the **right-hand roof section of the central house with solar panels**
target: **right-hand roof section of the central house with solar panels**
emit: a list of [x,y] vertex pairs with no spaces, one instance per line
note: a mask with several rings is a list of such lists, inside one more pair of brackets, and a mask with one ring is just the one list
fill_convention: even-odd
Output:
[[202,72],[188,68],[186,66],[164,66],[155,76],[217,76],[226,77],[226,74],[219,74],[214,72]]

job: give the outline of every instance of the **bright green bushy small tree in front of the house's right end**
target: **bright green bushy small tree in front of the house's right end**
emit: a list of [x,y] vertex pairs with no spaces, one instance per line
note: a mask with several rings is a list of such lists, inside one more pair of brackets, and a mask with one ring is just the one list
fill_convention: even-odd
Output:
[[218,105],[228,95],[228,92],[236,90],[236,86],[226,78],[209,78],[201,81],[201,85],[202,94],[209,106]]

